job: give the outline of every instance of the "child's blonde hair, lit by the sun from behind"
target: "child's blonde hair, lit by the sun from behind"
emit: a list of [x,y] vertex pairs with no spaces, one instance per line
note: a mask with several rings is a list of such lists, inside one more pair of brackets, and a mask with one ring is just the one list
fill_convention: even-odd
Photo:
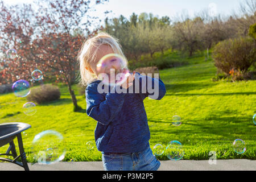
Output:
[[[89,70],[85,69],[85,67],[90,67],[90,63],[95,61],[98,48],[104,44],[110,46],[114,53],[123,56],[123,59],[127,64],[127,59],[123,54],[121,49],[122,46],[119,44],[118,39],[114,38],[106,32],[99,32],[96,36],[85,40],[79,51],[77,60],[80,65],[80,84],[86,86],[90,82],[97,80],[96,75],[90,73]],[[93,48],[96,48],[94,49],[94,52]]]

